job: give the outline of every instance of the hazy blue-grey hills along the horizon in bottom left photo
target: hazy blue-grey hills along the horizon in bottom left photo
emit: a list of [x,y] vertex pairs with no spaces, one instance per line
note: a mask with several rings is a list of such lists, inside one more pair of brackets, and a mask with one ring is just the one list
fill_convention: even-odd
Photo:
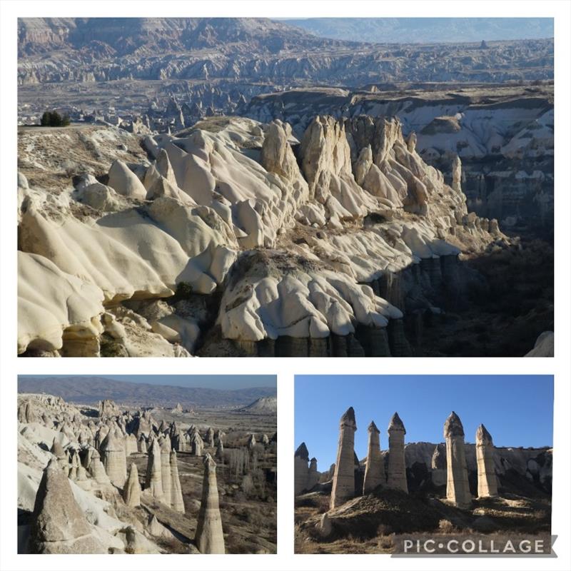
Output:
[[118,405],[164,406],[172,408],[240,408],[263,397],[275,397],[275,387],[252,387],[237,390],[176,387],[148,383],[126,383],[104,377],[26,377],[18,379],[19,393],[46,393],[72,403],[96,405],[111,398]]

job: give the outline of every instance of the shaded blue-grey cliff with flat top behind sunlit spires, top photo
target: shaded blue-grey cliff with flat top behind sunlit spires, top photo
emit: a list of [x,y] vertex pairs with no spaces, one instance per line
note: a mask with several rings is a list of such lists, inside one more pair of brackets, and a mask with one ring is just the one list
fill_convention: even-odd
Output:
[[420,156],[450,181],[453,157],[463,162],[468,208],[502,226],[553,224],[552,86],[409,86],[399,91],[294,89],[261,94],[244,113],[288,121],[303,133],[315,115],[398,116],[415,131]]

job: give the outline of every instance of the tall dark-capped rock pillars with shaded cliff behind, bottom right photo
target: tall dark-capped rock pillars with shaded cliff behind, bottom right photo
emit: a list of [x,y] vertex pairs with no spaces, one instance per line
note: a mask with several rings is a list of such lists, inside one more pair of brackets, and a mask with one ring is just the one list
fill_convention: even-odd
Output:
[[[388,450],[380,450],[380,431],[372,421],[368,426],[368,449],[363,462],[358,460],[354,450],[356,430],[355,411],[349,408],[340,419],[337,462],[328,472],[318,473],[317,460],[309,462],[305,443],[301,443],[294,457],[295,496],[318,490],[330,481],[330,510],[340,507],[348,500],[368,495],[380,487],[409,492],[418,486],[445,487],[446,499],[460,509],[472,505],[468,471],[477,477],[477,497],[498,495],[498,474],[515,470],[522,477],[542,490],[550,489],[550,450],[528,449],[525,453],[514,448],[504,448],[501,453],[494,447],[492,437],[484,425],[476,432],[475,445],[464,442],[464,429],[456,413],[450,413],[445,421],[445,443],[410,443],[405,445],[406,430],[398,413],[390,419],[388,426]],[[544,461],[547,454],[549,460]],[[540,460],[541,458],[541,460]],[[542,465],[542,468],[540,468]],[[427,480],[422,466],[429,475]],[[509,467],[509,468],[507,468]],[[421,474],[422,481],[418,480]],[[328,522],[330,525],[330,522]],[[322,533],[319,525],[318,530]]]

